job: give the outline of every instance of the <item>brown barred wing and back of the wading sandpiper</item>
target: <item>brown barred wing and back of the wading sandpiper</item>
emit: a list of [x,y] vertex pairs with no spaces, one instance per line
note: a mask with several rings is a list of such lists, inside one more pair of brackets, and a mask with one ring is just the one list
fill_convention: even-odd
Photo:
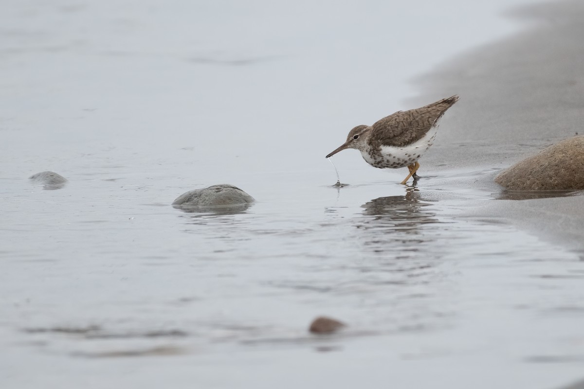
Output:
[[376,121],[371,127],[369,145],[403,147],[422,138],[444,112],[458,101],[458,96],[447,97],[425,107],[398,111]]

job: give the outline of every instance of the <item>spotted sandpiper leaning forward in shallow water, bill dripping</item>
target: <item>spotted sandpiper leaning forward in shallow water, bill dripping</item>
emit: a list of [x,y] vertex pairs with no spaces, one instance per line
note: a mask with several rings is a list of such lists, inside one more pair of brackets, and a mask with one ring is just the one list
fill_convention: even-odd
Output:
[[417,180],[418,159],[434,143],[438,120],[456,101],[458,96],[455,94],[421,108],[397,111],[373,125],[358,125],[349,131],[347,141],[326,157],[340,150],[357,149],[373,167],[397,169],[407,166],[409,175],[402,185],[408,182],[409,177]]

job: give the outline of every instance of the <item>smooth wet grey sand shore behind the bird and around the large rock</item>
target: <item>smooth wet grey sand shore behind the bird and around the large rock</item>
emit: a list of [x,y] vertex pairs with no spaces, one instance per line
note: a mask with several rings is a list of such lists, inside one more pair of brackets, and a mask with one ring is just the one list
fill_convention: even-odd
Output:
[[[439,171],[503,169],[548,145],[584,134],[584,2],[559,1],[514,10],[533,25],[479,47],[416,80],[427,91],[412,104],[460,94],[423,165]],[[457,184],[501,191],[494,174]],[[504,196],[503,196],[504,197]],[[542,239],[584,252],[584,196],[513,201],[475,210]]]

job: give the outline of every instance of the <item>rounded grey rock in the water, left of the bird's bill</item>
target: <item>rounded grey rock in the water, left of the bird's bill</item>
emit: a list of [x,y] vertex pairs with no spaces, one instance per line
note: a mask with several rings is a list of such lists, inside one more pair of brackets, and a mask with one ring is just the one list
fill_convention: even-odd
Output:
[[172,205],[208,207],[251,204],[253,201],[255,201],[253,197],[238,187],[218,184],[185,192],[176,198]]

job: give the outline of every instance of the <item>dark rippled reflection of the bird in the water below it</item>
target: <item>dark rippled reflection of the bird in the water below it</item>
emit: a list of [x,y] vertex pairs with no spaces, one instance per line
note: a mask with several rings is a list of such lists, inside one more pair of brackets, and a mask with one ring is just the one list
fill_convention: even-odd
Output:
[[356,220],[356,227],[363,230],[363,249],[370,253],[419,256],[429,249],[439,230],[436,213],[431,204],[420,201],[415,186],[408,187],[404,195],[376,198],[361,207],[364,217]]

